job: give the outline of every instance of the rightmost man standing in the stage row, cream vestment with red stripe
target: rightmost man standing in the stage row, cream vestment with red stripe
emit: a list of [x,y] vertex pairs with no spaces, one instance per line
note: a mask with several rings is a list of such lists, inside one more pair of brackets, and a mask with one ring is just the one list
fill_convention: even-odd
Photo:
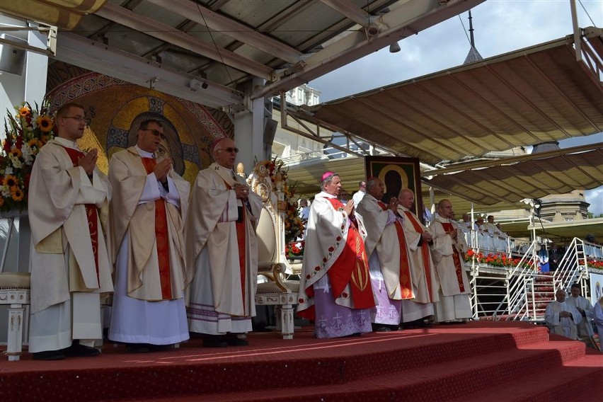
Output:
[[451,221],[452,203],[449,200],[438,202],[437,213],[429,226],[433,238],[433,263],[440,280],[440,302],[435,304],[435,321],[465,323],[473,316],[464,258],[467,243]]

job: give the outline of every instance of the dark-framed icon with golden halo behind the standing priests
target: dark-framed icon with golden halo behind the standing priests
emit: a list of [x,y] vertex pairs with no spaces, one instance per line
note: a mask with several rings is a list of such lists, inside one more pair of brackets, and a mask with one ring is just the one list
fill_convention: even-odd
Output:
[[364,168],[367,178],[378,177],[385,184],[384,202],[398,197],[403,188],[415,193],[413,212],[423,221],[423,196],[421,195],[420,165],[418,158],[399,158],[397,156],[366,156]]

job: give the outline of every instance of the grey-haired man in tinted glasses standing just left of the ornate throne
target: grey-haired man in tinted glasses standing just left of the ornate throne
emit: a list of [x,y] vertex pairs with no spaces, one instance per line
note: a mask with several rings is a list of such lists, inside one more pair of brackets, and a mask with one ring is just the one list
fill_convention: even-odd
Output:
[[190,276],[190,331],[207,348],[248,345],[255,316],[258,240],[255,221],[262,199],[232,170],[239,149],[221,138],[210,149],[214,163],[197,173],[186,222]]

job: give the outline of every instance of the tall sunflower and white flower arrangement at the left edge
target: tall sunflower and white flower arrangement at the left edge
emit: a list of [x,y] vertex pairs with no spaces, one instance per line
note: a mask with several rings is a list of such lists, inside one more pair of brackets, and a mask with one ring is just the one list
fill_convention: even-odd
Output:
[[4,120],[6,138],[0,150],[0,212],[27,209],[31,168],[40,148],[54,137],[54,120],[48,114],[47,103],[41,108],[35,103],[15,107],[16,115]]

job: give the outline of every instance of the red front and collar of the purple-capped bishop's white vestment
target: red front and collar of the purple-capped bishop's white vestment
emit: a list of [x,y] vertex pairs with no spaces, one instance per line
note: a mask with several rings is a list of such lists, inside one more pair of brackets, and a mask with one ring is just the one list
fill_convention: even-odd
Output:
[[[328,199],[336,210],[343,208],[343,204],[336,198]],[[348,238],[345,246],[331,269],[327,271],[331,281],[332,294],[335,299],[343,294],[349,284],[352,291],[352,300],[355,309],[368,309],[375,306],[373,289],[370,285],[369,262],[364,251],[364,241],[356,224],[350,219]]]

